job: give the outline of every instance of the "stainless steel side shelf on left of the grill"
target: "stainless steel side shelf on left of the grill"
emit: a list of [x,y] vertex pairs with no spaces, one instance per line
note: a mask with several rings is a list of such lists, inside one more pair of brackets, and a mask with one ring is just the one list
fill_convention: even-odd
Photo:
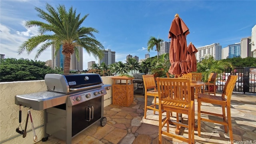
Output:
[[33,110],[44,110],[53,106],[66,103],[67,95],[57,92],[36,92],[15,96],[15,104],[22,105]]

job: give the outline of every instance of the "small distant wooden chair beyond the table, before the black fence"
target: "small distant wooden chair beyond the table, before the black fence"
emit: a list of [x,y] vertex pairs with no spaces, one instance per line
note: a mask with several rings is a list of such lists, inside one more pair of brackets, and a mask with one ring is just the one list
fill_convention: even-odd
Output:
[[216,88],[217,87],[216,87],[215,82],[216,82],[217,76],[218,76],[218,73],[210,73],[210,76],[208,78],[208,82],[205,83],[205,85],[208,88],[207,88],[207,90],[204,90],[203,93],[214,94],[214,96],[216,96]]

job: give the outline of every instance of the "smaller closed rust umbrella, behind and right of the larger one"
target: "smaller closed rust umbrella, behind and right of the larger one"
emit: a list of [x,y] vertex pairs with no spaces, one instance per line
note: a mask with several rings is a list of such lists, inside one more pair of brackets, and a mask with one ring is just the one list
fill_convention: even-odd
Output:
[[198,50],[196,49],[194,44],[192,44],[192,42],[190,42],[190,44],[188,45],[187,50],[188,53],[186,60],[188,61],[188,65],[190,66],[190,72],[196,72],[196,52],[198,52]]

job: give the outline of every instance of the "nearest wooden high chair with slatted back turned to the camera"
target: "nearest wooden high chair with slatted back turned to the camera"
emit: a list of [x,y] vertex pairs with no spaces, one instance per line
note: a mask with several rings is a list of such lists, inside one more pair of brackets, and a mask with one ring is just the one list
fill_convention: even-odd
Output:
[[[194,144],[194,101],[191,100],[190,79],[186,78],[156,78],[159,110],[166,111],[162,120],[159,113],[159,144],[162,144],[162,134]],[[170,120],[170,112],[176,112],[176,121]],[[179,122],[178,114],[188,115],[188,124]],[[188,138],[170,132],[170,124],[188,128]],[[163,130],[167,126],[166,131]]]

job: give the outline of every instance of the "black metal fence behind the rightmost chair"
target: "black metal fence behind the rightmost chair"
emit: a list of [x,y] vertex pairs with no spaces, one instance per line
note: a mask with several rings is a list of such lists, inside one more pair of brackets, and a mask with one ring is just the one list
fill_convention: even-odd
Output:
[[223,90],[226,80],[229,75],[238,75],[236,85],[234,87],[234,92],[249,92],[256,93],[256,67],[245,67],[245,68],[227,68],[223,74],[218,76],[216,85],[218,85],[217,90]]

